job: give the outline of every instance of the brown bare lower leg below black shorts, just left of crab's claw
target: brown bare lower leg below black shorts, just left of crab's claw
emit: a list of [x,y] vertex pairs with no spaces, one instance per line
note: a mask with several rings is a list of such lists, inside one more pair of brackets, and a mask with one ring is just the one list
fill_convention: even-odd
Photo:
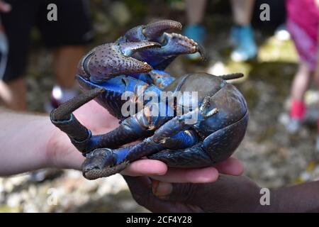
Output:
[[77,64],[83,55],[83,46],[65,46],[55,50],[53,68],[57,84],[62,89],[72,89],[74,87]]

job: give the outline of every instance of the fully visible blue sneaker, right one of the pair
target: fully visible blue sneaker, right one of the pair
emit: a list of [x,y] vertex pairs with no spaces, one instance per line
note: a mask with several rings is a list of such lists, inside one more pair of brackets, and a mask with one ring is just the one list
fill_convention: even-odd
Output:
[[257,55],[257,45],[254,43],[254,33],[251,26],[235,26],[230,31],[230,40],[235,50],[230,58],[235,62],[250,60]]

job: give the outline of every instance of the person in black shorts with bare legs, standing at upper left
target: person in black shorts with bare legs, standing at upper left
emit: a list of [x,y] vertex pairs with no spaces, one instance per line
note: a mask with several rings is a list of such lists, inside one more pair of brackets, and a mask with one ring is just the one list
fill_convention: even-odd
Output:
[[[57,21],[47,20],[49,4],[57,5]],[[74,76],[85,45],[93,39],[89,15],[84,0],[0,1],[1,21],[9,40],[9,56],[3,81],[0,81],[0,101],[15,110],[26,109],[26,84],[30,29],[37,26],[47,48],[53,51],[53,72],[57,84],[52,89],[50,111],[77,94]]]

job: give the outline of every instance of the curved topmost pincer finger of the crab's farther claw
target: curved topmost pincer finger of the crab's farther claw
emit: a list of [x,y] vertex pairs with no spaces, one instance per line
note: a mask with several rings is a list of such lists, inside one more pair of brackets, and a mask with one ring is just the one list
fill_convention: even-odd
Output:
[[147,24],[147,26],[145,26],[142,30],[142,33],[145,35],[147,40],[161,42],[162,40],[159,39],[164,32],[169,30],[181,31],[181,23],[172,20],[155,21]]

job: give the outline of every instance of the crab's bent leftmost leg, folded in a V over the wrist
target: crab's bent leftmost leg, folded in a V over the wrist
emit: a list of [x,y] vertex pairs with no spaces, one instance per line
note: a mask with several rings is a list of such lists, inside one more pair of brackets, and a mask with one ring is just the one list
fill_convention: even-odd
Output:
[[116,148],[150,135],[150,131],[140,124],[140,121],[145,120],[133,117],[122,121],[113,131],[103,135],[91,135],[91,131],[79,123],[72,112],[103,92],[105,92],[103,88],[89,90],[61,104],[50,114],[52,123],[67,133],[72,144],[82,153],[89,153],[96,148]]

